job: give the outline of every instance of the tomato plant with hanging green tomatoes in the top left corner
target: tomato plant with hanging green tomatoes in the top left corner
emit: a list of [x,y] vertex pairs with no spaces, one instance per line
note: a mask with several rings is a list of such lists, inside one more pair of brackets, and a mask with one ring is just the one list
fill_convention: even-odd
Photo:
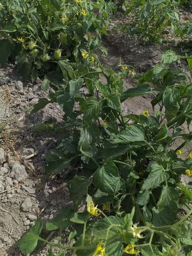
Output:
[[49,72],[54,80],[55,61],[78,62],[81,51],[99,47],[113,9],[104,0],[2,0],[0,62],[15,61],[24,79],[32,82]]

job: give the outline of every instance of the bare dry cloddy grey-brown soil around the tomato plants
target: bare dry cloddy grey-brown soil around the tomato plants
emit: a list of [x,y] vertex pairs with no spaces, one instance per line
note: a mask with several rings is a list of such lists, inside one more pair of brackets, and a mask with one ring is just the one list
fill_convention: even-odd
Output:
[[[118,28],[123,21],[121,13],[112,16],[108,36],[103,39],[108,49],[103,63],[113,68],[121,57],[122,63],[132,65],[136,73],[160,63],[161,53],[169,46],[143,46],[136,38],[127,38]],[[178,65],[187,70],[186,62]],[[131,88],[135,83],[134,79],[128,79],[124,87]],[[15,243],[34,221],[51,219],[62,206],[71,205],[62,176],[47,182],[43,178],[46,152],[56,145],[58,136],[36,135],[34,125],[49,118],[62,122],[63,113],[57,105],[48,105],[29,115],[38,98],[48,96],[48,91],[40,90],[40,84],[40,80],[36,84],[23,82],[12,65],[0,68],[0,256],[21,256]],[[148,109],[153,113],[151,99],[149,96],[128,99],[123,103],[123,111],[140,114]],[[191,150],[192,145],[188,145],[186,154]],[[53,241],[56,238],[54,233]],[[33,255],[47,256],[48,251],[45,248]]]

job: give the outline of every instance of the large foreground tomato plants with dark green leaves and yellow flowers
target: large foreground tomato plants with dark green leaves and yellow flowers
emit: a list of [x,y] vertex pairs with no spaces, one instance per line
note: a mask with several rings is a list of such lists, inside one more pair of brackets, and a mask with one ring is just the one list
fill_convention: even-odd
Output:
[[[61,249],[57,256],[69,251],[78,256],[191,256],[192,183],[184,186],[180,176],[192,176],[192,152],[185,160],[180,155],[192,141],[192,132],[181,126],[192,122],[192,78],[171,65],[186,59],[192,70],[192,57],[165,52],[161,64],[135,77],[137,87],[126,91],[123,80],[133,73],[129,66],[119,63],[114,71],[99,61],[92,65],[88,58],[78,70],[76,63],[58,61],[68,80],[64,76],[65,85],[49,99],[39,99],[31,112],[53,102],[65,112],[64,125],[38,123],[35,130],[63,132],[57,148],[47,154],[46,174],[70,173],[73,208],[62,208],[46,223],[48,231],[59,230],[58,243],[40,236],[38,220],[19,248],[32,253],[40,241],[49,244],[51,256],[54,246]],[[123,101],[145,94],[152,95],[154,112],[123,114]],[[180,138],[182,143],[173,149]],[[79,212],[82,204],[86,209]],[[188,213],[180,218],[183,205]],[[69,240],[62,244],[66,228]]]

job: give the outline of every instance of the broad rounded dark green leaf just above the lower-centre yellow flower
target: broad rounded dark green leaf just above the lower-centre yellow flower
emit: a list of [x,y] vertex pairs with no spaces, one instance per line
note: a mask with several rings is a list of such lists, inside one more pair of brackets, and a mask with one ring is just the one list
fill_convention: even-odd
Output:
[[124,182],[119,175],[117,166],[108,161],[94,173],[94,185],[100,191],[114,195],[124,188]]

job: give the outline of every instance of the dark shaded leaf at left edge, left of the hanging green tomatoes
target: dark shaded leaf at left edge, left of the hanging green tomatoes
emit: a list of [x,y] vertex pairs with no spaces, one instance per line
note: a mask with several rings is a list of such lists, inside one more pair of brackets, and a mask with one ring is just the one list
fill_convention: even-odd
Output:
[[14,45],[8,39],[0,40],[0,63],[5,64],[14,49]]

